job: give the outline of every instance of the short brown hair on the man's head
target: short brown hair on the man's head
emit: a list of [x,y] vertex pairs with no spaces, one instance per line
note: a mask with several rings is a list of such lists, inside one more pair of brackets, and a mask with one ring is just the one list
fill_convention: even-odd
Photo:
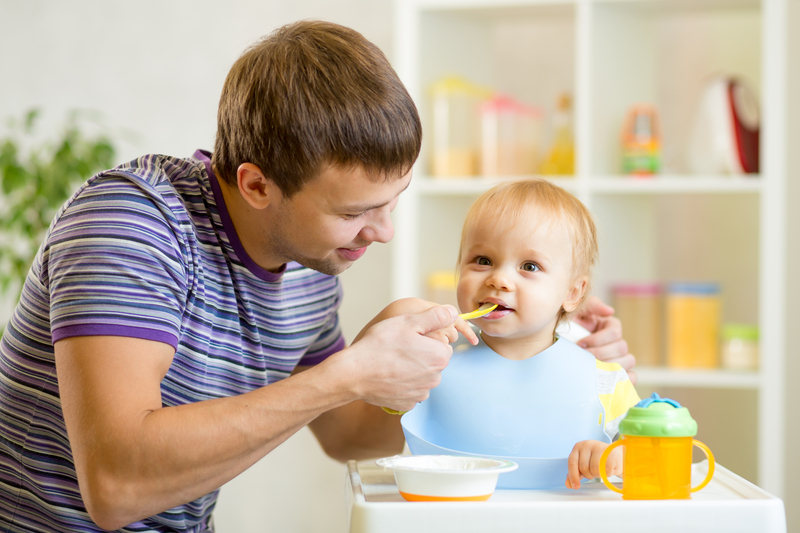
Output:
[[404,176],[421,141],[417,108],[383,52],[352,29],[301,21],[231,68],[212,163],[233,186],[239,165],[253,163],[290,197],[327,165]]

